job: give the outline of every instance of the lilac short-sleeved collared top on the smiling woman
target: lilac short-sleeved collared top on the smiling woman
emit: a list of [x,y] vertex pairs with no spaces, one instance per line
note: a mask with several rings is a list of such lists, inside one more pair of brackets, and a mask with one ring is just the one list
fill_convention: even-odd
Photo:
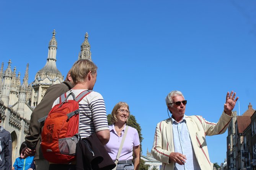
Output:
[[[121,131],[121,136],[118,136],[116,129],[114,127],[114,124],[109,126],[110,139],[108,143],[105,145],[105,149],[113,160],[116,160],[117,152],[121,144],[122,137],[124,136],[125,129],[126,129],[126,125],[124,129]],[[133,127],[129,127],[126,135],[126,139],[124,140],[124,145],[123,145],[119,160],[132,160],[133,147],[139,146],[139,145],[140,145],[140,140],[139,140],[139,134],[137,130]]]

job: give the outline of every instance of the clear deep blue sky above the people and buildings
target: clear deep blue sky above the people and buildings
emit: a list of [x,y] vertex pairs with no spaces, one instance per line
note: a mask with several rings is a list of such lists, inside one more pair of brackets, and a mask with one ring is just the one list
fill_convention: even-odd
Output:
[[[143,155],[155,127],[168,118],[165,96],[179,90],[186,115],[217,122],[227,91],[240,113],[256,109],[256,1],[112,0],[0,1],[0,62],[29,83],[44,67],[56,30],[57,68],[63,75],[78,59],[86,32],[99,67],[94,90],[106,109],[125,101],[142,128]],[[234,110],[238,111],[238,103]],[[227,132],[207,136],[211,162],[226,157]]]

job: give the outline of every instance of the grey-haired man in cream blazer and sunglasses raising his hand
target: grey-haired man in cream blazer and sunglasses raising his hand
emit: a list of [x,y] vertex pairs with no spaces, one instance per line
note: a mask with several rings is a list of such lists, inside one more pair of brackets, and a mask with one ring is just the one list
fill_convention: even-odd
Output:
[[212,170],[205,135],[222,134],[233,117],[238,97],[227,93],[224,111],[217,123],[202,116],[185,115],[187,100],[180,91],[171,91],[165,98],[172,116],[157,124],[153,142],[153,157],[162,162],[166,170]]

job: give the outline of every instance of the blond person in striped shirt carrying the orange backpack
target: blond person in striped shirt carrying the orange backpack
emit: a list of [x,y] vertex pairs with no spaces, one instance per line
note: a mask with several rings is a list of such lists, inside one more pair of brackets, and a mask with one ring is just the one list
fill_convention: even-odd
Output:
[[[74,93],[78,96],[82,91],[93,90],[97,78],[97,66],[90,60],[80,59],[76,61],[70,69],[70,75],[75,86],[67,91]],[[70,98],[72,98],[70,96]],[[69,99],[69,98],[68,98]],[[53,104],[59,104],[57,98]],[[109,141],[109,126],[106,115],[106,107],[104,99],[101,94],[92,91],[86,95],[79,102],[80,109],[80,124],[79,134],[81,138],[89,137],[91,134],[96,133],[97,137],[102,144]],[[75,163],[71,164],[50,164],[49,170],[62,169],[62,170],[75,170]]]

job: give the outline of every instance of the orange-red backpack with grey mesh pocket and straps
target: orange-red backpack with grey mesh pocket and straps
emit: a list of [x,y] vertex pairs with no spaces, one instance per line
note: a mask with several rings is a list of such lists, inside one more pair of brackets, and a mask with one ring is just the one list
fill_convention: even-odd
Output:
[[[42,130],[41,149],[46,160],[56,164],[63,164],[75,160],[76,146],[80,140],[79,135],[79,102],[91,90],[85,90],[75,98],[74,93],[60,96],[59,104],[52,107],[46,117],[38,120],[44,121]],[[69,96],[73,99],[67,100]]]

